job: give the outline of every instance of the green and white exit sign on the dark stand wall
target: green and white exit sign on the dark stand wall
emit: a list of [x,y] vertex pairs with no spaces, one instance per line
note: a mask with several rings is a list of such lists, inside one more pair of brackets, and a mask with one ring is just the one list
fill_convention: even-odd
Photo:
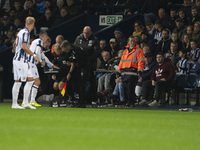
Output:
[[100,26],[113,25],[121,20],[123,20],[122,15],[100,15],[99,16],[99,25]]

